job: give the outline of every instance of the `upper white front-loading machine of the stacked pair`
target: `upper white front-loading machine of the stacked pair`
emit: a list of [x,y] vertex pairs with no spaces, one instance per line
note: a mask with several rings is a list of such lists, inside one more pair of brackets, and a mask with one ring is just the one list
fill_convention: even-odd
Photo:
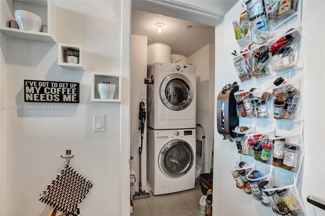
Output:
[[148,127],[196,127],[196,66],[155,62],[148,70]]

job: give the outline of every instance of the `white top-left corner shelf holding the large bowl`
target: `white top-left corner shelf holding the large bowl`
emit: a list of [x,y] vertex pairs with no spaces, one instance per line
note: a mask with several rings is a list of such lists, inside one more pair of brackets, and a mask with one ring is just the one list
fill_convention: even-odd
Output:
[[[11,28],[10,20],[15,20],[16,10],[26,10],[42,18],[42,26],[47,32]],[[56,5],[54,1],[7,0],[0,1],[0,30],[8,37],[55,43],[56,39]]]

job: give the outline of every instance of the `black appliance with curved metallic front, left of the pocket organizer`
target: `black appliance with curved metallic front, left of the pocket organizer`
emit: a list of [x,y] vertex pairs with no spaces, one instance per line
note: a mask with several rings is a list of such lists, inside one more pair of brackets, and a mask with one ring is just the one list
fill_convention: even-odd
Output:
[[[224,139],[234,138],[236,126],[239,125],[237,116],[237,103],[234,93],[239,90],[237,82],[225,85],[218,95],[217,99],[217,128],[218,133],[224,136]],[[231,138],[232,137],[232,138]]]

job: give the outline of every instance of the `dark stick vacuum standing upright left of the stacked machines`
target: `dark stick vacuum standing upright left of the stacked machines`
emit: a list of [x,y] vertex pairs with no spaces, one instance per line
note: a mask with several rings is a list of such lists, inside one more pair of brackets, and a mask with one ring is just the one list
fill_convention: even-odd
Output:
[[136,192],[135,195],[133,195],[133,199],[144,199],[149,198],[150,194],[146,193],[145,191],[142,191],[142,182],[141,182],[141,155],[142,155],[142,143],[143,143],[143,134],[144,134],[144,123],[146,120],[146,108],[144,106],[144,102],[140,102],[139,104],[139,120],[140,120],[140,126],[139,129],[141,130],[141,147],[139,148],[139,192]]

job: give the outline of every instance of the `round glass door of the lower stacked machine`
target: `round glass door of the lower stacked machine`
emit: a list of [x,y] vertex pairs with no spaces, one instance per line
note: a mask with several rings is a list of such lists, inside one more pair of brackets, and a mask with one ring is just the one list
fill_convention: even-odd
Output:
[[166,176],[177,178],[185,175],[194,161],[193,150],[184,140],[176,139],[168,142],[159,153],[160,171]]

